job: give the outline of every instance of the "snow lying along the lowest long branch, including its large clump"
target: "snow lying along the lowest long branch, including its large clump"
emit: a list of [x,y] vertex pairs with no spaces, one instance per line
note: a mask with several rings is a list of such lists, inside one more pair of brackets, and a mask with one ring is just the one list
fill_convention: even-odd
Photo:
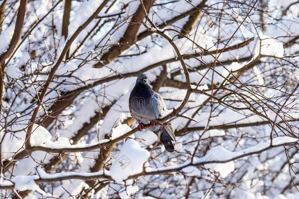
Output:
[[[189,175],[199,175],[199,171],[194,171],[191,166],[204,166],[206,169],[211,169],[220,173],[222,177],[226,177],[230,172],[234,171],[234,162],[240,158],[259,154],[263,151],[269,150],[279,146],[292,146],[297,145],[299,140],[292,137],[278,137],[264,143],[259,143],[255,146],[243,149],[241,151],[231,152],[221,146],[216,146],[210,149],[203,157],[194,159],[193,162],[186,161],[184,164],[162,167],[150,168],[146,167],[145,171],[141,171],[145,160],[149,157],[149,152],[140,148],[138,143],[134,140],[128,140],[126,145],[123,146],[122,151],[116,157],[116,164],[113,164],[110,171],[102,170],[99,172],[64,172],[48,174],[41,168],[37,169],[38,174],[29,176],[15,176],[12,180],[2,180],[0,189],[21,189],[35,190],[36,184],[40,182],[55,182],[70,179],[110,179],[116,180],[121,183],[123,180],[136,178],[143,175],[157,175],[157,174],[170,174],[173,172],[183,171]],[[139,148],[139,149],[138,149]],[[138,150],[140,150],[140,152]],[[138,154],[138,155],[137,155]],[[128,168],[127,170],[124,170]],[[124,171],[123,171],[124,170]],[[126,172],[129,171],[129,172]],[[133,173],[130,173],[133,172]],[[134,173],[137,172],[137,173]],[[191,173],[190,173],[191,172]],[[197,172],[197,173],[194,173]],[[18,181],[22,179],[22,187],[18,186]],[[32,183],[34,180],[35,183]],[[17,184],[17,186],[16,186]],[[26,186],[27,184],[27,186]]]

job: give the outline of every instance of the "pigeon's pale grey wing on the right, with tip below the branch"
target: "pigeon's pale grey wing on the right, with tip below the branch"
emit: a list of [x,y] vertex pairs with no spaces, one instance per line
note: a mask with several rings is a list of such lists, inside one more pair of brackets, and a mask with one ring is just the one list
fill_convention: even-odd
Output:
[[[156,118],[157,119],[162,118],[164,116],[164,113],[166,112],[166,105],[161,95],[155,93],[154,96],[152,97],[151,102],[152,102],[152,109],[154,109],[154,112],[156,114]],[[170,121],[164,123],[164,129],[170,135],[171,139],[175,141],[174,129]]]

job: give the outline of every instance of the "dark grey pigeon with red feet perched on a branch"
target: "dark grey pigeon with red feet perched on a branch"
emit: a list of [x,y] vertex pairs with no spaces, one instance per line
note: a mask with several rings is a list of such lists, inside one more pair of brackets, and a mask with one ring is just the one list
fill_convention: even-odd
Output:
[[174,151],[175,140],[174,129],[171,121],[166,121],[163,124],[157,123],[156,119],[160,119],[164,114],[167,114],[165,102],[161,95],[153,91],[148,83],[148,78],[145,74],[140,74],[137,77],[136,84],[132,89],[129,97],[129,109],[131,115],[139,123],[138,128],[142,131],[145,124],[151,123],[149,130],[160,137],[160,142],[169,152]]

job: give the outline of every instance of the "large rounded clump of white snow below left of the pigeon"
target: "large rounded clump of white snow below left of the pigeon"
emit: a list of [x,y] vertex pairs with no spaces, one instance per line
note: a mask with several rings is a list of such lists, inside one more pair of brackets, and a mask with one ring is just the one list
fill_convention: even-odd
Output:
[[128,176],[143,171],[149,158],[149,151],[141,148],[137,141],[128,139],[110,167],[111,177],[122,183]]

